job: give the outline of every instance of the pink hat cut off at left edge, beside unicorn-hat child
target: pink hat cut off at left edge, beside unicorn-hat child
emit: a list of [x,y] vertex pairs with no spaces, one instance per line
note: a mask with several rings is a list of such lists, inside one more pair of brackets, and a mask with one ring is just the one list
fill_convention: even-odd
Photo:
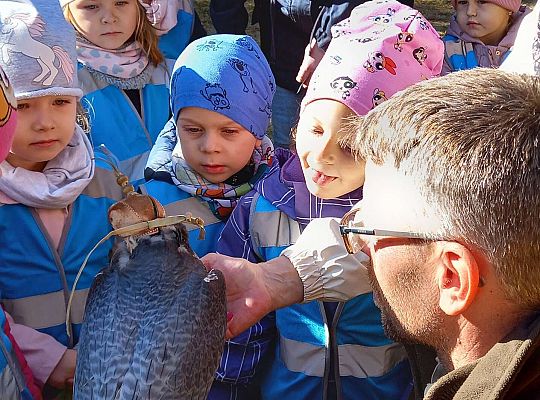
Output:
[[0,68],[0,162],[4,161],[15,134],[17,101],[6,74]]

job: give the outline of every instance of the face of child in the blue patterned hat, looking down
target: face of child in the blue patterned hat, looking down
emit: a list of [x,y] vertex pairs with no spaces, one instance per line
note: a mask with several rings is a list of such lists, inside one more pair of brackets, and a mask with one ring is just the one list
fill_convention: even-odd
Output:
[[176,123],[184,159],[212,183],[244,168],[261,143],[232,119],[204,108],[183,108]]

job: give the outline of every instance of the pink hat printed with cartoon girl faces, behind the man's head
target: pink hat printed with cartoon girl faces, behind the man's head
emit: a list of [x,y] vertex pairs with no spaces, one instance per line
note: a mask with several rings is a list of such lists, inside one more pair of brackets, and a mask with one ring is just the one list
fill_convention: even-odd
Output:
[[394,93],[439,75],[443,42],[431,24],[394,0],[370,1],[332,27],[332,40],[302,107],[331,99],[365,115]]

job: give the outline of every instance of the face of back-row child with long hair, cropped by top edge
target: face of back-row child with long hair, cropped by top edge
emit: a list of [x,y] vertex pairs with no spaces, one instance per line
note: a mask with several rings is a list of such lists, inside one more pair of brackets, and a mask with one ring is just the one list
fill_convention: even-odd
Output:
[[75,0],[68,7],[79,33],[103,49],[118,49],[137,28],[137,0]]

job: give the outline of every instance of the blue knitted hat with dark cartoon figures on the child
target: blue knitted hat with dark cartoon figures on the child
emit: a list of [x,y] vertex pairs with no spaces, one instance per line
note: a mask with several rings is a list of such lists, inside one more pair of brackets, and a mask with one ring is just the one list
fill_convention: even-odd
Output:
[[189,44],[176,60],[172,112],[176,120],[184,107],[216,111],[262,139],[275,87],[270,66],[250,36],[206,36]]

